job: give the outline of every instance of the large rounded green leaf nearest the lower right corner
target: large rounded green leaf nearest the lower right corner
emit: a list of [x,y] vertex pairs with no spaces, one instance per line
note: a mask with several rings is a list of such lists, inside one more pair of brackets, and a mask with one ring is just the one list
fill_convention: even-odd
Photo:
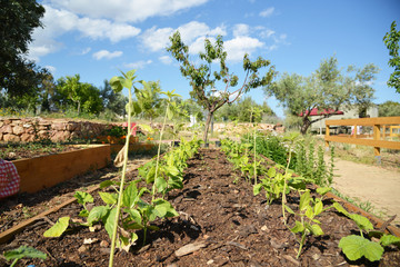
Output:
[[350,260],[357,260],[363,256],[370,261],[379,260],[384,250],[378,243],[356,235],[340,239],[339,247]]

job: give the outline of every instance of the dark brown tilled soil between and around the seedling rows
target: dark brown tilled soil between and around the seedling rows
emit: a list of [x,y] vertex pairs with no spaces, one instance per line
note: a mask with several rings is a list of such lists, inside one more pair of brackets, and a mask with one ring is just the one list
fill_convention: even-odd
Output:
[[[357,234],[357,227],[333,210],[318,218],[324,235],[308,237],[303,253],[297,259],[299,245],[282,221],[281,205],[267,205],[262,194],[254,197],[252,186],[243,179],[233,184],[238,174],[232,171],[221,151],[203,149],[188,164],[184,188],[169,195],[180,216],[157,220],[154,225],[160,230],[151,231],[143,247],[142,233],[138,231],[138,245],[129,253],[117,251],[114,266],[400,266],[397,248],[386,253],[380,263],[347,260],[338,244],[341,237]],[[129,172],[130,179],[136,177],[137,171]],[[296,209],[299,198],[290,195],[288,201]],[[101,200],[97,199],[96,205],[102,205]],[[72,204],[49,215],[48,219],[78,218],[80,210],[78,204]],[[294,225],[292,217],[288,225]],[[76,227],[60,238],[43,238],[42,234],[49,227],[47,219],[39,220],[10,243],[0,245],[0,251],[27,245],[48,254],[44,261],[22,259],[20,266],[108,265],[110,240],[103,228],[92,233]],[[83,245],[89,238],[94,243]],[[181,251],[190,244],[197,246],[192,253],[177,256],[177,250]],[[0,259],[0,266],[7,266],[3,259]]]

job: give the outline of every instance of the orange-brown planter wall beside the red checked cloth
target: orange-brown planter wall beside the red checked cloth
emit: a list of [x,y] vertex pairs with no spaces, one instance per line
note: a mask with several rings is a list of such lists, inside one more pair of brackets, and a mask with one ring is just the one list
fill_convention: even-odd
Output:
[[111,161],[110,155],[110,145],[91,145],[76,151],[18,159],[12,162],[21,177],[20,191],[36,192],[88,170],[106,167]]

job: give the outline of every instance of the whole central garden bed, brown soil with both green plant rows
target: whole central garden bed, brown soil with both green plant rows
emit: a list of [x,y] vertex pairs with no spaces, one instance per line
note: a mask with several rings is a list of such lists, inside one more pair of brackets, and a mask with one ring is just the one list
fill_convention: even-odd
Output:
[[[252,155],[248,145],[223,142],[232,162],[236,155]],[[179,154],[183,152],[166,155],[159,168],[153,161],[127,174],[128,180],[133,181],[123,191],[124,208],[119,222],[122,249],[116,250],[114,266],[376,266],[364,257],[353,261],[352,256],[342,254],[343,246],[338,247],[354,233],[364,236],[360,243],[372,244],[366,246],[361,256],[371,260],[377,257],[379,253],[369,250],[379,250],[376,244],[386,247],[380,266],[399,264],[398,239],[372,230],[372,224],[332,204],[331,197],[324,195],[327,189],[319,189],[324,196],[319,195],[287,167],[260,162],[257,157],[251,171],[251,158],[247,169],[238,168],[213,149],[202,149],[183,164],[176,161]],[[184,171],[181,167],[186,167]],[[154,174],[157,169],[160,175]],[[99,195],[92,196],[93,204],[91,196],[77,192],[80,205],[72,204],[47,216],[50,221],[58,220],[58,227],[67,225],[61,229],[67,231],[60,236],[44,238],[50,225],[37,224],[0,249],[27,245],[46,251],[44,261],[23,260],[36,266],[106,265],[112,228],[108,218],[117,201],[112,187],[118,188],[118,184],[104,181],[100,187]]]

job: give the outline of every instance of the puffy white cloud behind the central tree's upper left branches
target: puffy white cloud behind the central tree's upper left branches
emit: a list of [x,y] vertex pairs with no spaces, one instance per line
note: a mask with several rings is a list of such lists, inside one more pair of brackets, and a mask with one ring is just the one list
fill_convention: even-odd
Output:
[[[182,24],[177,29],[172,28],[159,28],[152,27],[143,32],[140,37],[142,44],[149,48],[151,51],[160,51],[166,49],[170,44],[169,37],[173,32],[179,30],[182,41],[190,47],[190,53],[197,53],[199,51],[198,42],[204,40],[206,37],[211,39],[213,36],[224,36],[227,31],[224,26],[219,26],[211,29],[203,22],[191,21],[189,23]],[[203,42],[201,43],[203,47]]]

